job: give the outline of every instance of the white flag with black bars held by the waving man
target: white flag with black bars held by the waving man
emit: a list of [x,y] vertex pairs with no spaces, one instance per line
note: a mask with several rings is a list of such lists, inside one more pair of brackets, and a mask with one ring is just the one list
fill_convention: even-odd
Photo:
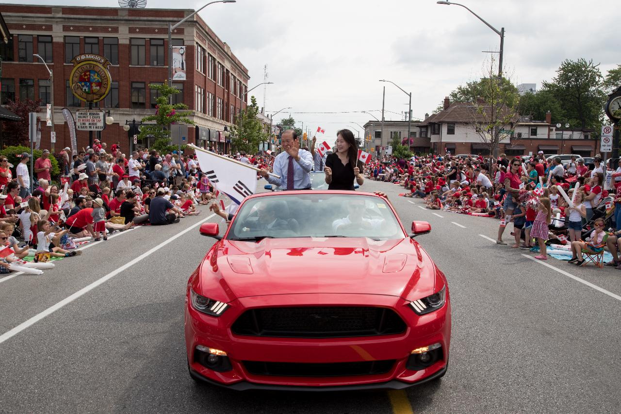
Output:
[[[196,149],[193,147],[193,149]],[[208,151],[194,151],[202,172],[219,191],[225,193],[238,205],[243,199],[256,192],[256,171],[213,155]]]

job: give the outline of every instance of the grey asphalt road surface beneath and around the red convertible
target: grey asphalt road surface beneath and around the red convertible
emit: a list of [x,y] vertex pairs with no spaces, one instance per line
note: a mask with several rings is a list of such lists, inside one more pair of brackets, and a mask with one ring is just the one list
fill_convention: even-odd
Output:
[[546,267],[479,236],[495,239],[494,219],[421,209],[388,183],[361,190],[388,193],[406,227],[432,224],[418,240],[451,291],[443,379],[406,392],[321,395],[195,384],[185,285],[213,242],[197,224],[222,223],[203,211],[87,245],[41,276],[0,277],[0,412],[621,412],[621,271],[555,259]]

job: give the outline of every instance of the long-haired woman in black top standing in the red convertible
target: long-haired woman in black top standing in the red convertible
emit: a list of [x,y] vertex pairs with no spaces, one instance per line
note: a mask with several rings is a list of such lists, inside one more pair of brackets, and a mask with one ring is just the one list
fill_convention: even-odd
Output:
[[353,180],[356,178],[358,185],[362,185],[365,179],[360,174],[358,165],[358,145],[349,129],[337,132],[336,151],[325,159],[325,182],[328,190],[353,190]]

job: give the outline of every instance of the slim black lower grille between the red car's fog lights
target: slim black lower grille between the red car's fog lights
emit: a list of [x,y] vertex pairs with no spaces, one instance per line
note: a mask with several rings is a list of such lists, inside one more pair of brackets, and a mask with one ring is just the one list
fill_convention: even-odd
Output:
[[394,359],[385,361],[332,362],[307,364],[299,362],[243,361],[253,375],[277,377],[348,377],[350,375],[386,374],[394,366]]

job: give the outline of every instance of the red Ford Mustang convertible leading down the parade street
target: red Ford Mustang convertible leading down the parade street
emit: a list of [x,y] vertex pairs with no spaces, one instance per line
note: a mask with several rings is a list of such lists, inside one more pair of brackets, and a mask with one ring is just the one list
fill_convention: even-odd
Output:
[[442,377],[446,278],[382,196],[283,191],[245,199],[188,280],[196,380],[231,389],[402,389]]

